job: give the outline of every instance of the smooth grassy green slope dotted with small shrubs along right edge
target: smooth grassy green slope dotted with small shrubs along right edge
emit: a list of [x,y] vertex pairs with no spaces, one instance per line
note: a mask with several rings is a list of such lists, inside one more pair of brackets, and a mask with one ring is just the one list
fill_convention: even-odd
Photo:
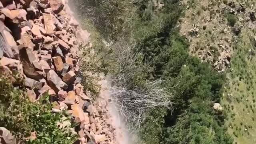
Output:
[[224,87],[222,103],[228,115],[228,132],[235,134],[238,144],[254,144],[255,140],[255,88],[256,58],[255,32],[243,30],[235,44],[234,58],[228,73],[228,84]]

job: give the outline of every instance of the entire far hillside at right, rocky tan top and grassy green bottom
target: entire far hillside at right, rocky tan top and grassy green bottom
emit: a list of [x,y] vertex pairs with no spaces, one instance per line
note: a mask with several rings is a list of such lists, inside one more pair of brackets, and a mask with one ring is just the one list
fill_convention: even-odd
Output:
[[220,104],[236,144],[253,144],[255,130],[255,2],[188,0],[180,33],[190,53],[227,74]]

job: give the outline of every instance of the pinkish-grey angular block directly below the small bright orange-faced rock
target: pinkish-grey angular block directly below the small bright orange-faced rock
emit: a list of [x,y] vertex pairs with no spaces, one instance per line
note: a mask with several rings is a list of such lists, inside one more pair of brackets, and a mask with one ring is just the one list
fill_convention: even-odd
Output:
[[68,85],[61,80],[54,70],[50,70],[47,73],[47,82],[56,93],[61,89],[66,90],[68,88]]

